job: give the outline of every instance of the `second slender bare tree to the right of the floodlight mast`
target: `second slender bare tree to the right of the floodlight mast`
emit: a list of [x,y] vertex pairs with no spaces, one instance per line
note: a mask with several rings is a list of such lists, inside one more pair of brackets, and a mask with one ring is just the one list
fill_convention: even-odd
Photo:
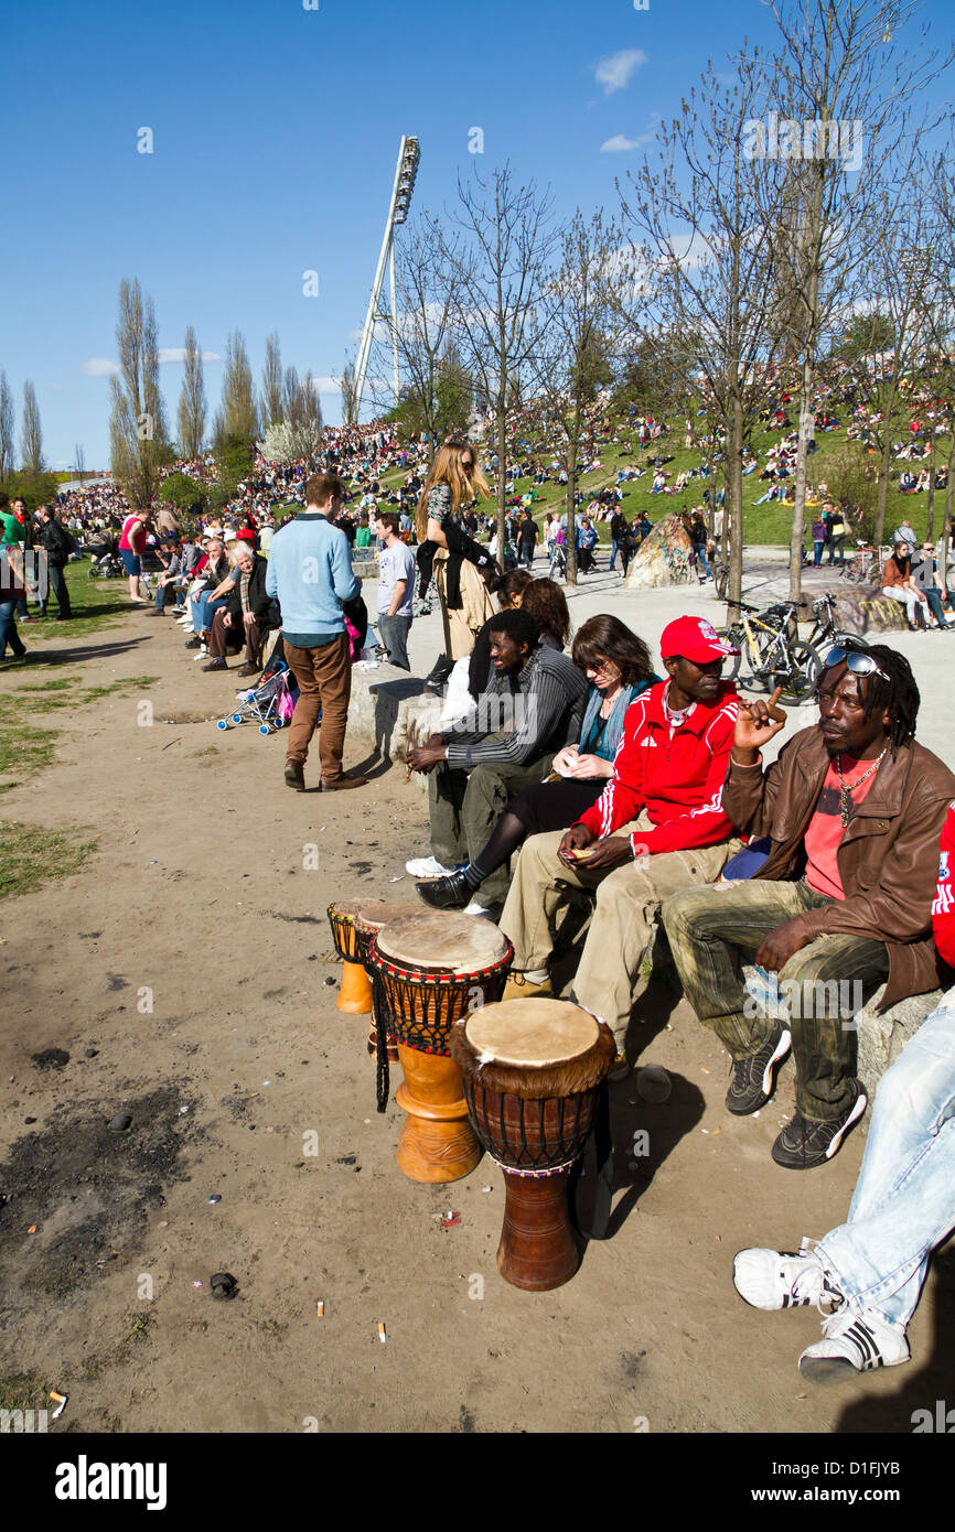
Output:
[[537,349],[530,358],[535,392],[558,429],[556,455],[567,473],[567,584],[576,585],[575,499],[581,443],[601,388],[612,380],[622,325],[612,290],[632,282],[615,233],[579,208],[561,233],[558,259],[543,285]]

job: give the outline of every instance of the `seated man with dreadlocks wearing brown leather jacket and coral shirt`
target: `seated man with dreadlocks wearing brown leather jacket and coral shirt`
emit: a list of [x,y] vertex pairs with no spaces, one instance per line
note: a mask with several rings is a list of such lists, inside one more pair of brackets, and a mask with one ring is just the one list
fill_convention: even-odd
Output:
[[[777,702],[740,702],[722,795],[740,833],[770,838],[766,861],[748,882],[674,895],[662,921],[687,999],[733,1059],[731,1112],[765,1106],[793,1048],[797,1109],[773,1158],[805,1170],[866,1109],[855,1013],[883,980],[883,1011],[938,985],[932,896],[955,777],[915,743],[918,688],[886,645],[829,651],[819,723],[763,772]],[[743,988],[740,958],[765,971],[770,1002]]]

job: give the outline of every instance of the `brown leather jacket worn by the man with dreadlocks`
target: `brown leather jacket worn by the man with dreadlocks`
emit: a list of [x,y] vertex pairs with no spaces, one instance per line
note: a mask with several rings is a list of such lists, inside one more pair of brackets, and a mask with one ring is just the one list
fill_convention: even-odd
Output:
[[[789,740],[766,772],[736,766],[730,757],[724,809],[740,833],[773,840],[757,878],[803,876],[803,836],[828,768],[819,726]],[[940,984],[932,898],[938,841],[952,798],[955,775],[938,755],[921,745],[897,755],[889,751],[838,847],[845,899],[797,916],[809,939],[840,931],[886,944],[889,980],[880,1011]]]

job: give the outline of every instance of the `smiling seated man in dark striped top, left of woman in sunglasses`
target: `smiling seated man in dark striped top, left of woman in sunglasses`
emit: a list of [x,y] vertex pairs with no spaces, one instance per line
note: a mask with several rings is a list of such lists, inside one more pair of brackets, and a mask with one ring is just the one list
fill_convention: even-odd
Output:
[[[498,611],[487,627],[492,676],[477,708],[446,737],[432,734],[406,757],[412,771],[429,772],[434,863],[422,864],[420,876],[440,878],[475,861],[510,798],[543,781],[556,751],[579,734],[587,682],[573,662],[541,643],[537,622],[520,608]],[[504,863],[484,879],[481,904],[466,913],[500,905],[507,881]]]

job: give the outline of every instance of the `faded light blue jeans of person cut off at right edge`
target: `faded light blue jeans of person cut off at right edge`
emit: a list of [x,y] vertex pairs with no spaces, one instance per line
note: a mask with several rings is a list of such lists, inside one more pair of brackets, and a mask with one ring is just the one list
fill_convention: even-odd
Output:
[[883,1075],[849,1221],[819,1242],[849,1307],[904,1330],[955,1226],[955,988]]

